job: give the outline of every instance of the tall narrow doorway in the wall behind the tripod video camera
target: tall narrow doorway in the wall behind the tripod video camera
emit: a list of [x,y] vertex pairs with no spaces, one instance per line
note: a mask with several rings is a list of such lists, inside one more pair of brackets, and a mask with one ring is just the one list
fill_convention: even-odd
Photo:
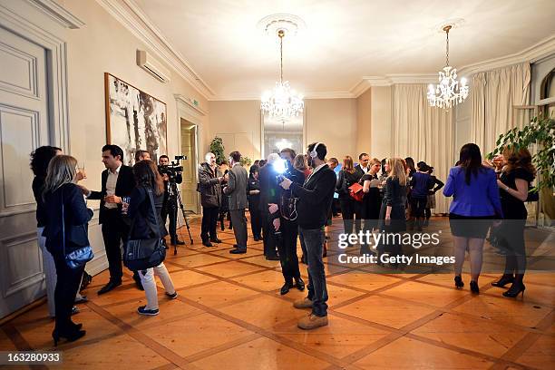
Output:
[[181,182],[181,201],[186,211],[199,212],[199,195],[197,192],[197,145],[198,127],[196,124],[180,118],[181,154],[185,156],[183,164],[183,182]]

